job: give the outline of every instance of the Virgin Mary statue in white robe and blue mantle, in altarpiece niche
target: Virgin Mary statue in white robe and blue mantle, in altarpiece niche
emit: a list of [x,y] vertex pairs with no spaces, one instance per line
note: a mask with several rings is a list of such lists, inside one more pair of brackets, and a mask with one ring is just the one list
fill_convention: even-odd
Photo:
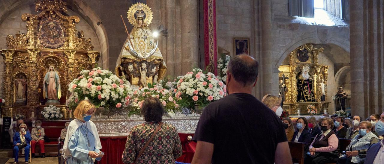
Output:
[[48,98],[48,103],[57,103],[61,98],[60,78],[52,66],[45,74],[43,84],[43,98]]

